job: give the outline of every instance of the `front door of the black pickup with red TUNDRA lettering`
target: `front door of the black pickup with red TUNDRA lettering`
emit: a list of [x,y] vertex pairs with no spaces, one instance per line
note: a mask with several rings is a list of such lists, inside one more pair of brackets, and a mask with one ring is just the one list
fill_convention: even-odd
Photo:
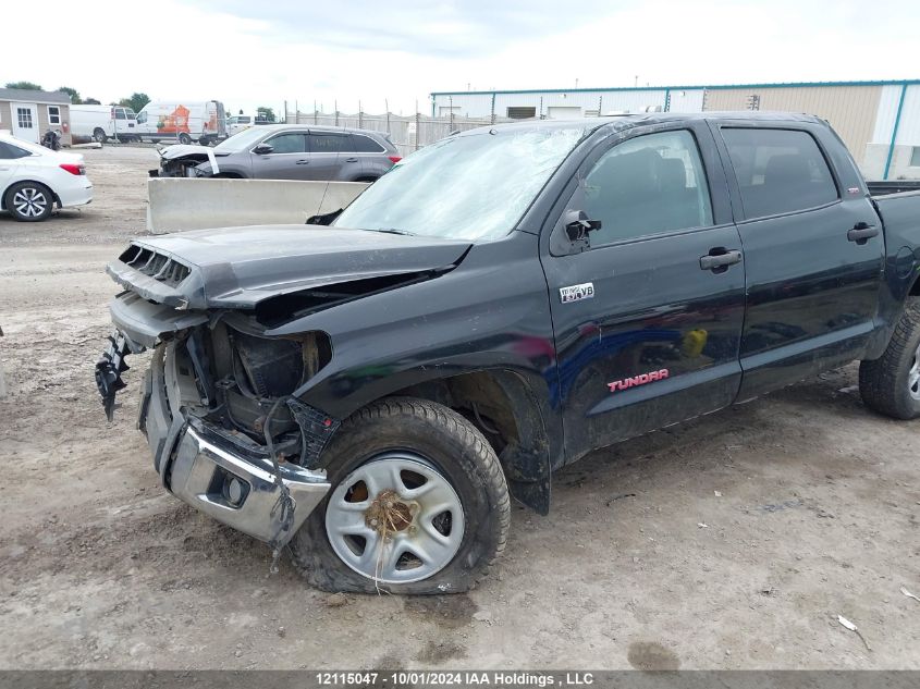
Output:
[[[542,260],[568,460],[727,406],[740,384],[745,266],[724,171],[703,123],[673,126],[600,146],[557,207]],[[566,254],[579,211],[601,227]]]

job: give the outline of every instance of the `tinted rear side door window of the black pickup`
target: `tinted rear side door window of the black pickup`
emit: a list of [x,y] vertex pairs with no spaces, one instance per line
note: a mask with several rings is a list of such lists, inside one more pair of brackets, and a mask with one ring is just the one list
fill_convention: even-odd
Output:
[[724,128],[745,216],[806,210],[839,198],[827,161],[807,132]]

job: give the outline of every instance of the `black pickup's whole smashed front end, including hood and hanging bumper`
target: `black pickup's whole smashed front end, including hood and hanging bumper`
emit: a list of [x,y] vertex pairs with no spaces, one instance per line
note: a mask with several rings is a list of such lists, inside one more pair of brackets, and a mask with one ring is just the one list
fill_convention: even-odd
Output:
[[135,241],[107,268],[124,292],[96,366],[106,414],[125,386],[125,359],[150,350],[137,427],[163,487],[278,555],[330,489],[318,466],[340,420],[303,398],[332,360],[330,334],[269,333],[434,279],[467,249],[304,225]]

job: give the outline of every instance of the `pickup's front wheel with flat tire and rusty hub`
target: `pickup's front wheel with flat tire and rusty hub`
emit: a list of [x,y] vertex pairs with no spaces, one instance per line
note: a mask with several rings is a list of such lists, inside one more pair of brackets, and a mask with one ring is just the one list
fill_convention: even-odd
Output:
[[322,460],[332,490],[291,541],[295,567],[320,589],[467,591],[504,551],[499,459],[442,405],[394,397],[361,409]]

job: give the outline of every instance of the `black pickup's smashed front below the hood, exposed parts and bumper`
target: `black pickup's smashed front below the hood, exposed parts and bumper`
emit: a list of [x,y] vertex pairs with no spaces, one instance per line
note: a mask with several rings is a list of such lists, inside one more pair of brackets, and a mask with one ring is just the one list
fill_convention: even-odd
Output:
[[324,333],[266,339],[236,315],[125,292],[96,379],[111,418],[125,358],[152,349],[137,427],[167,490],[278,551],[329,490],[316,460],[339,422],[293,396],[329,361]]

